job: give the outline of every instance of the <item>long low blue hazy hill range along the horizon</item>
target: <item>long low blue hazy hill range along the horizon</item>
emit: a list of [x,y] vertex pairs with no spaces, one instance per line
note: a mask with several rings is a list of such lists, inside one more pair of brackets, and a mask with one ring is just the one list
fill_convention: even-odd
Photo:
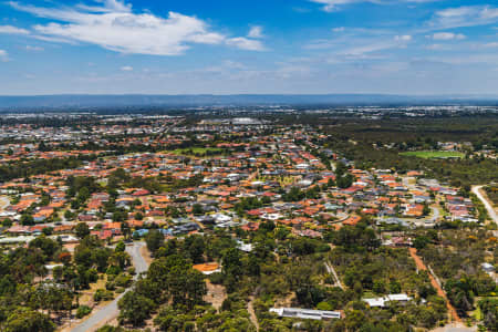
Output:
[[84,108],[120,106],[230,106],[230,105],[412,105],[497,104],[492,95],[408,96],[388,94],[234,94],[234,95],[34,95],[0,96],[0,110]]

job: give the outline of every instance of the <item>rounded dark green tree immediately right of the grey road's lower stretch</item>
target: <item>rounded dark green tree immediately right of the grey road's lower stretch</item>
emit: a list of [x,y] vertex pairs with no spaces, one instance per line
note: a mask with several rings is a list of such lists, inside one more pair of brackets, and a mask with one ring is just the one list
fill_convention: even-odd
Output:
[[144,295],[129,291],[117,302],[120,308],[120,322],[142,325],[154,310],[154,301]]

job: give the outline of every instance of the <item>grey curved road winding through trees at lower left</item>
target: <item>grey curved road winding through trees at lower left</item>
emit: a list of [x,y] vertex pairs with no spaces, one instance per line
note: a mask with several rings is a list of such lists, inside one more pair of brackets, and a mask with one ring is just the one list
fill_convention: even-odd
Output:
[[[145,246],[145,242],[133,242],[132,246],[126,246],[126,251],[129,253],[133,260],[133,264],[135,267],[136,274],[133,278],[136,280],[138,274],[142,272],[146,272],[148,269],[148,264],[145,259],[141,255],[141,248]],[[116,318],[120,314],[120,310],[117,309],[117,301],[120,301],[123,295],[129,291],[128,288],[125,292],[121,293],[117,298],[115,298],[111,303],[105,307],[100,308],[97,311],[93,312],[92,315],[79,323],[76,326],[71,329],[71,332],[86,332],[86,331],[95,331],[101,328],[105,322],[108,322]]]

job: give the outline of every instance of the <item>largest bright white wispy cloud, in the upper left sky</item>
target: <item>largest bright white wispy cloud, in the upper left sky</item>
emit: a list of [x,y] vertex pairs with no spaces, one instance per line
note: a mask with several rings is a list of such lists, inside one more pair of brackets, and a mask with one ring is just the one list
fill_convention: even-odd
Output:
[[120,0],[98,0],[101,6],[41,8],[11,1],[20,11],[53,19],[56,22],[34,25],[37,38],[64,42],[85,42],[129,54],[178,55],[191,44],[228,44],[242,50],[260,51],[261,42],[243,37],[230,38],[211,31],[196,17],[169,12],[167,18],[134,13],[132,6]]

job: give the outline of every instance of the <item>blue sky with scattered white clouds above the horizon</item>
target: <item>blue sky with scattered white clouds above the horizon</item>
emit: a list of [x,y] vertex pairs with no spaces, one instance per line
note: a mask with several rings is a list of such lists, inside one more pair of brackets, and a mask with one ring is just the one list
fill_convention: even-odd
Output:
[[0,0],[0,95],[498,95],[498,1]]

